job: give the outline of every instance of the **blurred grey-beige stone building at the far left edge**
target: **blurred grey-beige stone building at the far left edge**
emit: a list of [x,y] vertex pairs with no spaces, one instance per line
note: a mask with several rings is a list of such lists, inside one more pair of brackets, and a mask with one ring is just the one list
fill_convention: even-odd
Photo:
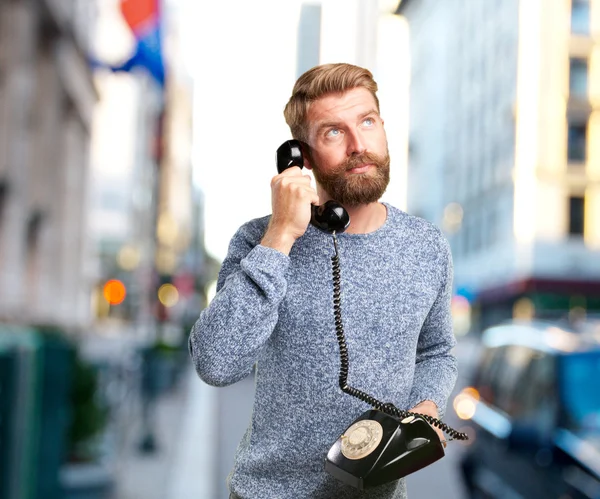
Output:
[[94,5],[0,3],[0,320],[89,322]]

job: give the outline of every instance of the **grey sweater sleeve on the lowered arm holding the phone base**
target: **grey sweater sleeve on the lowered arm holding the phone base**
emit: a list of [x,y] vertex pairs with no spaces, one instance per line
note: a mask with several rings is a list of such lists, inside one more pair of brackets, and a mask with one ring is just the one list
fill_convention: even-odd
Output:
[[452,348],[456,339],[452,330],[451,299],[453,263],[448,241],[440,234],[443,265],[442,283],[437,297],[423,322],[417,343],[415,376],[410,407],[431,400],[444,415],[448,397],[456,383],[458,371]]

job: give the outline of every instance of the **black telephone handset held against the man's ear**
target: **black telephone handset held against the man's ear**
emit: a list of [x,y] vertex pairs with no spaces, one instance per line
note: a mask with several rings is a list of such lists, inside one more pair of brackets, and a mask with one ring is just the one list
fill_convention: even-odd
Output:
[[[292,166],[304,166],[302,143],[298,140],[286,140],[277,149],[277,172],[282,173]],[[327,201],[321,206],[312,206],[310,223],[328,234],[340,234],[350,225],[350,216],[341,204]]]

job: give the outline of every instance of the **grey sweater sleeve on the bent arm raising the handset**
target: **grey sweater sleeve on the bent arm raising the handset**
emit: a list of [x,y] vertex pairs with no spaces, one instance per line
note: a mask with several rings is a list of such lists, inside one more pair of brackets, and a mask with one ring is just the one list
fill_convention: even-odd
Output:
[[252,371],[286,294],[289,257],[258,244],[255,232],[246,224],[232,238],[217,293],[190,333],[194,367],[209,385],[227,386]]

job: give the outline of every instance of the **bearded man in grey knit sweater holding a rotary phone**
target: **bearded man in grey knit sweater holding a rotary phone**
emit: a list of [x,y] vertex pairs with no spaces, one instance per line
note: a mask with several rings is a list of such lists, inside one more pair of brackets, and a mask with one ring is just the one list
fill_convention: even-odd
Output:
[[234,498],[406,497],[404,480],[359,491],[324,471],[329,448],[369,406],[338,386],[332,236],[309,223],[311,204],[334,199],[350,215],[337,235],[349,385],[439,417],[456,381],[449,246],[431,223],[379,202],[390,160],[376,91],[369,71],[348,64],[298,79],[284,115],[317,188],[298,167],[273,177],[272,215],[234,235],[192,330],[205,382],[235,383],[256,364],[228,479]]

